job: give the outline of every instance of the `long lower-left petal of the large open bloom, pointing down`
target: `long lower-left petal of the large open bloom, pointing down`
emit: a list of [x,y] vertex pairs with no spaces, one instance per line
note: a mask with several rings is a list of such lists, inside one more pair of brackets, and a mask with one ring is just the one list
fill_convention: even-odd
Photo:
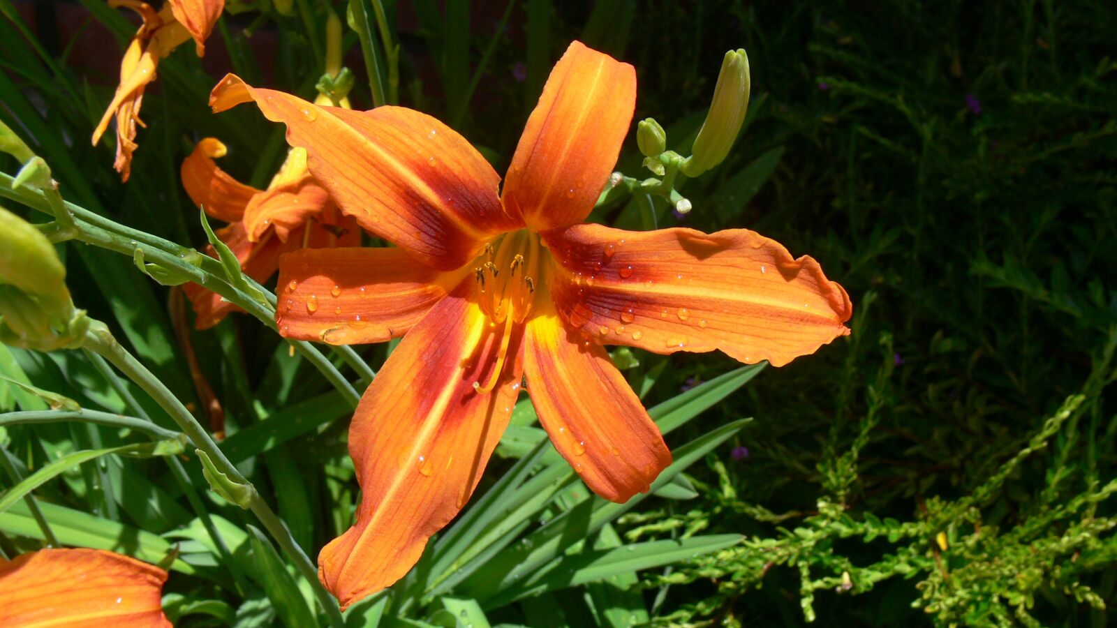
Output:
[[488,381],[503,329],[468,297],[466,278],[392,352],[350,427],[363,498],[356,523],[318,555],[322,582],[342,608],[391,586],[419,560],[427,539],[472,494],[519,392],[523,326],[508,364]]

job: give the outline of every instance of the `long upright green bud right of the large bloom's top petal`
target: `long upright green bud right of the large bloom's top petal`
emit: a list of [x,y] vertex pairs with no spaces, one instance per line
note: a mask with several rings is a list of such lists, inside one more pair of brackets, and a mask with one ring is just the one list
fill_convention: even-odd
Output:
[[748,56],[744,49],[726,53],[706,122],[698,131],[690,156],[682,162],[687,177],[706,172],[729,154],[748,111]]

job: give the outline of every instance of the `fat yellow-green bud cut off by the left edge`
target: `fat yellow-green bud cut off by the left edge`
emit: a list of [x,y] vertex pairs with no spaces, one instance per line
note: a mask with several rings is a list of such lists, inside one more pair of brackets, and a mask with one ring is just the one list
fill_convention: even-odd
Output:
[[[69,303],[66,267],[38,229],[0,207],[0,284],[42,297],[45,305]],[[65,312],[58,312],[65,315]]]

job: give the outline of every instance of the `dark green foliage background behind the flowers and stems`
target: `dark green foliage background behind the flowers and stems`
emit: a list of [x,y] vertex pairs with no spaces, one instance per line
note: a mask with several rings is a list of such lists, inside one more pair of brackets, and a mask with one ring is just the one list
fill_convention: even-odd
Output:
[[[552,558],[592,562],[603,554],[585,552],[668,540],[684,546],[678,543],[687,539],[704,543],[726,534],[743,535],[739,542],[686,549],[661,561],[669,567],[614,570],[584,584],[570,574],[585,575],[579,571],[585,564],[547,563],[557,575],[542,593],[515,601],[502,596],[534,591],[500,580],[510,572],[497,562],[484,563],[442,598],[409,597],[419,577],[399,588],[385,621],[452,626],[475,621],[481,607],[491,624],[531,626],[1104,626],[1114,618],[1117,60],[1110,55],[1117,10],[1085,0],[873,7],[527,0],[510,2],[502,22],[504,3],[400,4],[385,7],[400,45],[399,102],[447,120],[498,171],[571,39],[637,67],[637,118],[659,120],[669,148],[684,154],[722,55],[745,48],[750,116],[731,158],[680,189],[694,211],[679,219],[660,201],[652,212],[647,199],[621,199],[594,219],[632,229],[757,230],[794,255],[819,259],[850,293],[855,318],[849,339],[765,369],[732,392],[748,379],[738,375],[724,394],[705,398],[708,409],[694,397],[677,402],[679,389],[715,380],[735,363],[720,354],[636,353],[639,365],[627,373],[649,408],[705,409],[668,437],[672,448],[722,440],[672,480],[674,488],[617,513]],[[121,44],[131,35],[132,25],[99,0],[80,7],[94,17],[90,31],[108,28]],[[160,66],[159,89],[145,97],[149,127],[140,133],[133,180],[122,185],[111,169],[111,144],[85,140],[115,77],[92,74],[68,56],[67,41],[44,35],[41,21],[27,39],[31,31],[11,19],[9,0],[0,8],[9,18],[0,20],[0,116],[47,159],[68,201],[201,246],[197,212],[178,182],[193,142],[220,137],[230,148],[222,165],[257,185],[281,161],[280,131],[255,111],[209,113],[204,95],[220,73],[203,69],[183,47]],[[299,0],[295,9],[293,17],[262,21],[252,12],[229,18],[214,37],[249,82],[309,96],[321,72],[315,49],[323,3]],[[276,38],[274,72],[270,63],[258,65],[246,26],[258,28],[254,37]],[[367,107],[357,38],[351,32],[347,41],[354,98]],[[37,45],[56,67],[44,63]],[[118,48],[109,53],[116,58]],[[478,87],[470,89],[475,74]],[[385,70],[389,94],[390,78]],[[0,166],[16,168],[12,160]],[[631,139],[618,168],[648,174]],[[111,322],[122,342],[198,408],[166,288],[124,256],[76,242],[60,251],[75,302]],[[230,438],[222,448],[313,555],[347,524],[355,498],[344,449],[349,406],[246,315],[192,334],[192,343],[226,408]],[[385,348],[361,352],[375,368]],[[9,358],[0,350],[0,369],[85,408],[124,408],[95,361],[79,352],[12,350]],[[136,398],[159,421],[159,408]],[[27,410],[38,402],[0,388],[0,408],[17,403]],[[523,470],[513,464],[538,440],[529,407],[522,410],[502,447],[506,458],[490,465],[478,496]],[[754,420],[718,431],[744,417]],[[75,449],[130,441],[86,427],[11,427],[8,447],[30,470]],[[741,446],[748,456],[731,456]],[[247,527],[251,517],[208,498],[207,507],[239,530],[228,534],[246,540],[231,562],[221,562],[207,553],[199,521],[159,462],[109,457],[95,465],[38,489],[44,512],[111,534],[121,551],[153,561],[170,542],[184,540],[180,550],[197,573],[175,573],[168,586],[169,608],[183,625],[297,624],[292,618],[313,612],[285,612],[261,593],[274,587],[236,573],[280,560]],[[188,466],[204,487],[200,466]],[[523,520],[512,548],[543,540],[550,520],[580,521],[580,508],[598,507],[579,506],[591,502],[574,485],[556,491]],[[36,546],[30,515],[19,527],[13,512],[0,514],[0,549],[9,555]],[[108,522],[124,527],[105,532]],[[651,545],[639,551],[655,553]],[[276,573],[289,571],[276,564]],[[299,587],[295,598],[306,597],[305,583]],[[470,606],[474,598],[479,607]],[[370,608],[356,607],[347,620],[374,624]]]

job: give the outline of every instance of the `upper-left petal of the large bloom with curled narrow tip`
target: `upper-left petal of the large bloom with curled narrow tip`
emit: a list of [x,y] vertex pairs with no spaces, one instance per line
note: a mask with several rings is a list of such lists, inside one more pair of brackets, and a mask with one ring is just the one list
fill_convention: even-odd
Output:
[[354,112],[257,89],[228,75],[210,96],[214,112],[255,99],[287,125],[287,142],[342,210],[428,266],[449,270],[484,240],[519,226],[500,207],[499,178],[457,132],[403,107]]

